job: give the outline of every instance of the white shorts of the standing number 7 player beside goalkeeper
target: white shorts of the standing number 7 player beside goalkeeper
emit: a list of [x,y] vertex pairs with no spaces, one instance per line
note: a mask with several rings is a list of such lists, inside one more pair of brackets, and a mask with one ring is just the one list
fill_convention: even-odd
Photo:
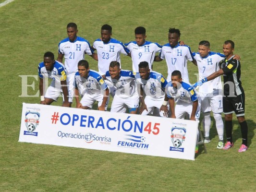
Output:
[[223,112],[222,95],[214,95],[214,93],[206,94],[199,93],[201,98],[201,112],[207,113],[212,111],[213,113]]

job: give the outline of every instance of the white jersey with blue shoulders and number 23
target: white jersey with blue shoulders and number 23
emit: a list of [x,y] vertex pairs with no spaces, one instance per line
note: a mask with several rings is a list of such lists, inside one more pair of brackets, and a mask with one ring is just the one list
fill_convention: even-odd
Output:
[[102,40],[97,39],[93,43],[93,48],[97,50],[98,71],[101,75],[109,71],[111,61],[118,61],[121,65],[120,53],[124,55],[130,53],[121,41],[113,38],[106,44]]

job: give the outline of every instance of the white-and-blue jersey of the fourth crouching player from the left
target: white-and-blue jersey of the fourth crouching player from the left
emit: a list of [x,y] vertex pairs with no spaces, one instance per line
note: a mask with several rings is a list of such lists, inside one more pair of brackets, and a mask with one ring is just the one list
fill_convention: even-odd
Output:
[[166,79],[158,72],[150,72],[148,79],[142,79],[140,73],[135,75],[136,83],[141,84],[146,96],[159,99],[165,96]]

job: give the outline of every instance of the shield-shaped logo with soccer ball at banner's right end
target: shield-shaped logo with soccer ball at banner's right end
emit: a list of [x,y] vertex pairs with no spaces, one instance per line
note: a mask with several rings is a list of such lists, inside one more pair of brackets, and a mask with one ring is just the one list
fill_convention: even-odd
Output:
[[184,152],[184,148],[182,147],[182,144],[186,138],[185,135],[186,135],[185,128],[179,128],[179,127],[171,128],[172,146],[170,146],[170,151]]

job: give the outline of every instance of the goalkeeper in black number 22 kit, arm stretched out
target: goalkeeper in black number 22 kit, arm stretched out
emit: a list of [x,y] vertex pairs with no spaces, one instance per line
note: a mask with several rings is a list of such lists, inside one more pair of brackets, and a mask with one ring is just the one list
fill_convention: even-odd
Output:
[[247,134],[248,126],[244,117],[245,95],[241,83],[241,65],[239,60],[234,59],[234,42],[227,40],[223,45],[223,52],[226,56],[223,63],[223,68],[212,73],[201,81],[195,83],[193,87],[200,86],[207,81],[211,81],[223,74],[224,81],[224,96],[223,96],[223,111],[225,114],[225,129],[227,135],[227,143],[223,147],[228,150],[233,146],[232,139],[232,113],[235,112],[237,120],[241,126],[242,145],[238,152],[244,152],[248,149]]

